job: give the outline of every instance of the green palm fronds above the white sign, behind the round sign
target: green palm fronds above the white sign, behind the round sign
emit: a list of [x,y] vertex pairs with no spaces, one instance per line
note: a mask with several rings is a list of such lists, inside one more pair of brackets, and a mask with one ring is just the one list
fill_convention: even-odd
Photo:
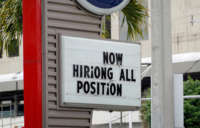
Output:
[[[128,25],[128,39],[136,40],[143,38],[143,28],[147,25],[146,18],[148,16],[147,9],[142,4],[143,0],[131,0],[130,3],[122,9],[124,15],[122,26],[126,22]],[[103,38],[110,38],[110,16],[105,16],[103,23]]]

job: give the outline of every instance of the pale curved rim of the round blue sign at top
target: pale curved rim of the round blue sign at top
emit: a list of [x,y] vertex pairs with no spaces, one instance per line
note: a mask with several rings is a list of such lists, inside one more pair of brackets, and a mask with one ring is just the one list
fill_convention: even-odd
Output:
[[85,9],[87,9],[88,11],[98,14],[98,15],[109,15],[115,11],[121,10],[124,7],[126,7],[126,5],[128,5],[128,3],[130,2],[130,0],[123,0],[122,3],[120,3],[119,5],[112,7],[112,8],[100,8],[97,7],[89,2],[87,2],[87,0],[77,0],[77,2],[83,6]]

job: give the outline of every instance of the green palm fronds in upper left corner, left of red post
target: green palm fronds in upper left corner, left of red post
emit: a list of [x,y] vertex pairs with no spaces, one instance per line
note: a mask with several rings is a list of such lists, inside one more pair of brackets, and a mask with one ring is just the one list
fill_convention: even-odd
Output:
[[8,56],[18,54],[22,36],[22,0],[0,1],[0,49]]

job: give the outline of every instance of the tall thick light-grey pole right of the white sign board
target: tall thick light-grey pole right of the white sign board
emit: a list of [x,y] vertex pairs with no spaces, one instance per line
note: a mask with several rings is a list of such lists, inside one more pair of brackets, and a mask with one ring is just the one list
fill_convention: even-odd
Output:
[[170,5],[170,0],[151,0],[152,128],[174,128]]

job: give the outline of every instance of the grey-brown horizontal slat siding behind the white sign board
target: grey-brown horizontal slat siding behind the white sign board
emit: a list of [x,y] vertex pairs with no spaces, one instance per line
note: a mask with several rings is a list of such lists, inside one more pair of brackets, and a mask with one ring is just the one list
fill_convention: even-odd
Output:
[[89,128],[91,109],[62,108],[59,105],[57,34],[100,38],[101,18],[81,10],[74,0],[47,0],[46,10],[46,128]]

